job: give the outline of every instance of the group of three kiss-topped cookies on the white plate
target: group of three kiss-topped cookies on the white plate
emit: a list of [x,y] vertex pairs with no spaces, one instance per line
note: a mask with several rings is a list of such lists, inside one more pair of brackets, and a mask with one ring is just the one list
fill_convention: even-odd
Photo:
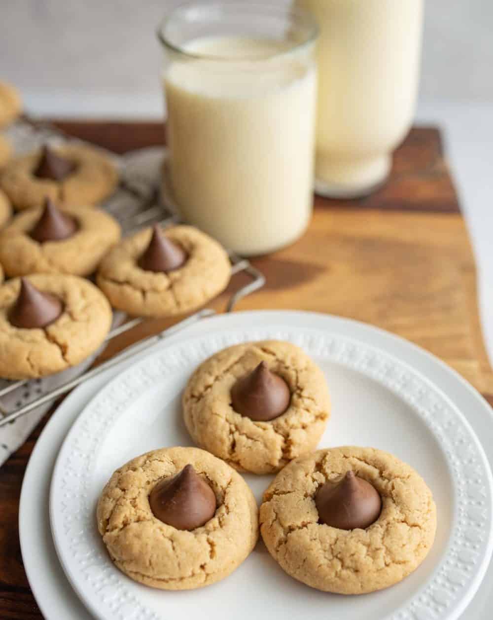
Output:
[[[288,575],[346,595],[389,587],[427,556],[436,508],[424,480],[376,448],[316,451],[328,387],[292,343],[216,353],[188,380],[182,409],[200,449],[133,459],[98,502],[110,557],[137,582],[165,590],[217,582],[247,558],[259,531]],[[277,474],[260,511],[238,472]]]

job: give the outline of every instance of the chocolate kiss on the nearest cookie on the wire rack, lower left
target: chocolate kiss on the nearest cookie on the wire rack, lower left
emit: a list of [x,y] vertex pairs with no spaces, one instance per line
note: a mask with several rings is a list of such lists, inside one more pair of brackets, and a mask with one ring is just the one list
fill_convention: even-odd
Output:
[[17,301],[9,314],[9,321],[14,327],[34,329],[46,327],[56,321],[63,311],[63,304],[50,293],[43,293],[26,278],[20,279],[20,291]]

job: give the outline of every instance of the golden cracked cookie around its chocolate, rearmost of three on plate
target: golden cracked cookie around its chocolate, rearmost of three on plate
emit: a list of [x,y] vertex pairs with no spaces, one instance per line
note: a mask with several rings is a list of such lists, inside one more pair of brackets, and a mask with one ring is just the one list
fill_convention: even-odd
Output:
[[[237,379],[265,362],[286,381],[287,409],[268,422],[233,409]],[[183,416],[193,440],[238,471],[271,474],[292,459],[312,452],[330,415],[323,372],[290,342],[266,340],[226,348],[194,371],[183,393]]]

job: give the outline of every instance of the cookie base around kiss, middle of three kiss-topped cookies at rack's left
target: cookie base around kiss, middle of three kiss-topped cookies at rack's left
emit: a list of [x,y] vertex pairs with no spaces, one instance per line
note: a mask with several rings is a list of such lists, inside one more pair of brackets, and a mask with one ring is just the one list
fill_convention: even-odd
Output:
[[66,239],[40,243],[30,236],[43,215],[41,207],[22,211],[0,232],[0,263],[7,275],[89,275],[120,240],[120,225],[104,211],[76,206],[60,207],[59,211],[76,224]]

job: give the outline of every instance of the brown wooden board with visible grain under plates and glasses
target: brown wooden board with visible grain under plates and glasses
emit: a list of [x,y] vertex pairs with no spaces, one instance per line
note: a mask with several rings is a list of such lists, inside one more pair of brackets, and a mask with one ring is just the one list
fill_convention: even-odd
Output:
[[[160,123],[60,122],[71,135],[124,153],[162,144]],[[316,198],[312,223],[295,244],[253,260],[263,290],[237,309],[302,309],[369,322],[415,342],[453,366],[493,404],[493,373],[481,337],[476,272],[468,234],[436,128],[413,128],[398,149],[390,182],[363,200]],[[233,278],[214,301],[243,283]],[[146,321],[116,339],[101,359],[164,329]],[[17,531],[20,485],[50,414],[0,468],[0,618],[41,618],[22,567]]]

